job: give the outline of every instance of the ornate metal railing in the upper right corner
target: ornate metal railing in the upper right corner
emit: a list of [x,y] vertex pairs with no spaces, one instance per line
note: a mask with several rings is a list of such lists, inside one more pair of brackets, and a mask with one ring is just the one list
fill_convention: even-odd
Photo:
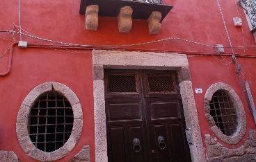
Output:
[[252,25],[251,32],[256,31],[256,0],[240,0],[238,4],[243,10],[246,10],[246,14],[250,19],[250,24]]

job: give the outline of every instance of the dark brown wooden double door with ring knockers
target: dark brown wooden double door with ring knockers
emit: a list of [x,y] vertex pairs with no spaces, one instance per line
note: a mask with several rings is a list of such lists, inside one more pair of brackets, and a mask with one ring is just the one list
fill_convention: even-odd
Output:
[[191,161],[176,71],[104,71],[111,162]]

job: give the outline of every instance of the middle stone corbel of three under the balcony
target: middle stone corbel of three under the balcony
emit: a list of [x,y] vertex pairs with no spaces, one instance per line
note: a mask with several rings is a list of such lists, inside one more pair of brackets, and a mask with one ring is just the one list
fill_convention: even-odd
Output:
[[132,8],[130,6],[125,6],[120,9],[120,13],[118,15],[118,29],[120,33],[129,33],[131,30],[131,15]]

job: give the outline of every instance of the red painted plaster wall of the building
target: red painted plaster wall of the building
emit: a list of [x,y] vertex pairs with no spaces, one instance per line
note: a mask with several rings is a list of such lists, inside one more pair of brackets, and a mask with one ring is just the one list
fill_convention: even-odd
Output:
[[[256,48],[250,46],[256,46],[255,39],[248,28],[243,9],[236,5],[236,1],[219,1],[232,46],[248,46],[246,48],[234,48],[234,53],[254,56]],[[85,15],[79,15],[79,0],[20,0],[21,24],[22,29],[37,37],[70,44],[98,46],[138,44],[175,36],[211,46],[216,44],[230,46],[217,1],[166,0],[163,2],[174,7],[163,20],[162,28],[157,35],[149,34],[145,20],[133,20],[129,33],[119,33],[118,20],[110,17],[99,17],[97,31],[86,30],[84,27]],[[241,17],[242,28],[234,26],[233,17]],[[1,3],[0,19],[0,30],[13,30],[13,24],[19,26],[17,0]],[[14,30],[17,31],[17,28]],[[23,32],[26,33],[26,31]],[[0,73],[5,73],[8,69],[9,51],[5,55],[1,55],[10,47],[14,39],[19,41],[19,35],[0,33]],[[29,42],[29,44],[54,44],[24,35],[22,35],[22,40]],[[218,142],[225,147],[240,147],[248,138],[248,130],[256,128],[243,91],[237,81],[236,66],[233,62],[229,64],[230,55],[225,57],[227,53],[232,52],[230,48],[225,48],[225,54],[222,54],[223,58],[216,55],[214,49],[209,46],[191,44],[177,39],[125,48],[140,51],[166,51],[170,52],[170,55],[171,53],[189,54],[193,88],[201,87],[204,91],[203,94],[195,94],[202,136],[207,133],[212,134],[205,118],[203,98],[205,91],[216,82],[225,82],[238,93],[246,109],[248,119],[246,136],[241,142],[232,146],[219,140]],[[205,56],[205,53],[212,53],[216,58],[211,55]],[[242,67],[243,80],[250,81],[250,89],[256,101],[256,91],[253,90],[256,89],[255,60],[255,57],[238,57]],[[13,150],[22,161],[32,161],[29,156],[24,154],[17,141],[15,132],[17,112],[31,89],[43,82],[54,81],[67,85],[77,94],[83,107],[84,117],[79,143],[70,154],[61,160],[72,159],[83,145],[89,144],[91,161],[95,161],[91,51],[75,50],[74,52],[63,48],[22,49],[17,48],[16,45],[13,48],[12,63],[10,74],[0,77],[0,150]]]

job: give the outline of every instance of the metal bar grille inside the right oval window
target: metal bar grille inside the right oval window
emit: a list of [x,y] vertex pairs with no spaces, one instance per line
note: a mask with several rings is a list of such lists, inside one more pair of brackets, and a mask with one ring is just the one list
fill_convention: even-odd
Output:
[[223,134],[232,136],[237,130],[237,111],[227,91],[216,91],[211,98],[210,107],[210,115],[214,118],[216,126]]

